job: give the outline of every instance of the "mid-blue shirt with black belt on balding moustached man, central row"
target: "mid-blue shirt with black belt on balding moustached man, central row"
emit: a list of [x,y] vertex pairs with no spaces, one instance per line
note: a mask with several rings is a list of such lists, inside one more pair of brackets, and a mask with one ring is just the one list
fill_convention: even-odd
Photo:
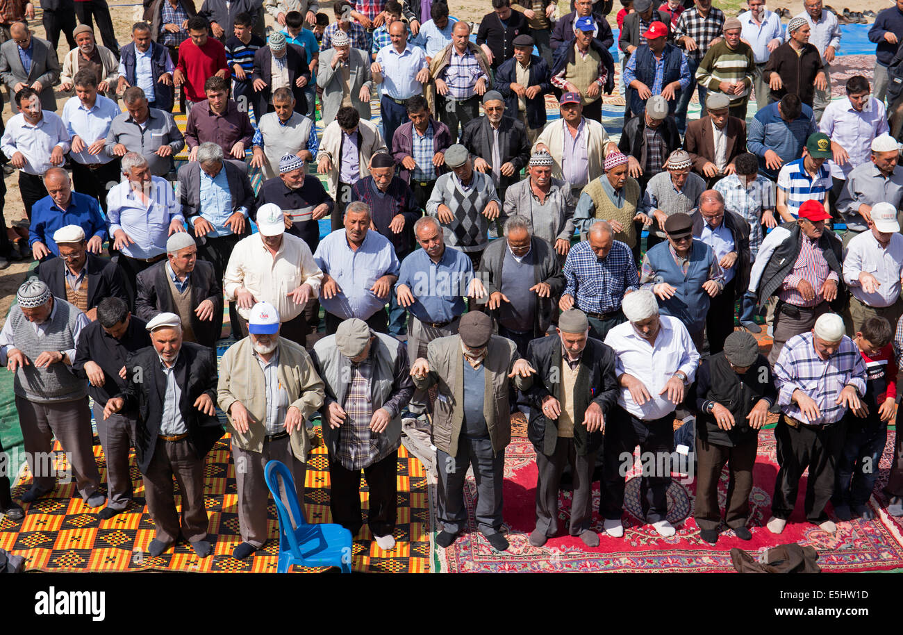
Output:
[[[464,313],[464,300],[473,265],[453,247],[445,247],[439,262],[417,249],[401,264],[397,285],[407,285],[414,303],[407,310],[421,322],[452,322]],[[396,285],[396,289],[398,288]]]

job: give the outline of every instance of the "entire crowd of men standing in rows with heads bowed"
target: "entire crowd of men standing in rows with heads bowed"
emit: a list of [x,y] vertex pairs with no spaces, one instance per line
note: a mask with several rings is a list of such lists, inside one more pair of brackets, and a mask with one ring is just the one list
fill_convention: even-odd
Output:
[[[503,551],[520,409],[538,468],[531,545],[559,532],[563,486],[568,533],[600,544],[594,481],[602,531],[622,537],[624,455],[637,447],[658,466],[639,477],[641,521],[673,536],[678,444],[694,457],[700,537],[715,544],[761,530],[748,527],[749,493],[776,414],[767,530],[785,528],[806,469],[808,522],[834,532],[835,519],[872,518],[903,349],[887,80],[872,96],[853,76],[831,100],[841,33],[821,0],[786,25],[763,0],[739,17],[711,0],[679,14],[621,4],[618,143],[600,121],[615,89],[604,2],[559,14],[548,0],[492,0],[474,42],[439,0],[337,2],[332,22],[306,0],[156,0],[121,49],[102,12],[105,46],[79,14],[62,71],[56,40],[34,37],[23,9],[0,45],[17,112],[0,151],[30,227],[3,232],[0,248],[40,264],[0,332],[0,362],[27,456],[55,437],[107,520],[133,504],[134,447],[151,555],[183,539],[203,557],[203,464],[228,430],[242,465],[233,556],[247,558],[269,538],[265,464],[284,462],[301,498],[319,413],[335,522],[362,527],[363,472],[370,532],[394,548],[404,434],[426,440],[438,479],[436,543],[468,527],[472,469],[477,528]],[[50,33],[65,16],[49,13]],[[903,2],[878,23],[883,42],[903,38]],[[61,117],[58,84],[74,90]],[[687,121],[697,89],[701,117]],[[560,117],[546,121],[550,98]],[[265,177],[257,191],[249,166]],[[765,324],[767,358],[753,336]],[[898,441],[886,488],[897,516],[901,462]],[[30,468],[23,503],[55,486]],[[0,511],[24,517],[8,481]]]

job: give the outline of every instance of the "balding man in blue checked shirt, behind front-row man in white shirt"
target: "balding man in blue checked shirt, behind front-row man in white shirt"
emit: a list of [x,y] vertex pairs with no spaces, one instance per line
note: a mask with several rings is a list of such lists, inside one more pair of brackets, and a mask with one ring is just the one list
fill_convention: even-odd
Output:
[[558,307],[586,313],[591,335],[597,340],[604,340],[613,327],[625,321],[621,301],[639,288],[630,247],[615,240],[614,233],[608,222],[596,221],[587,239],[573,246],[564,263],[565,287]]

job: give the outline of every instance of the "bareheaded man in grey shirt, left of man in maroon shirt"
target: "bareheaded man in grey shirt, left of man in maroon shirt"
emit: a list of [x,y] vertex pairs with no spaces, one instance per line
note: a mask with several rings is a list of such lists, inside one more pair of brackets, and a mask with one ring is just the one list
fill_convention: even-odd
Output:
[[137,86],[126,89],[122,97],[126,112],[117,115],[107,133],[107,154],[124,157],[140,154],[151,166],[154,176],[166,176],[172,170],[172,157],[185,147],[185,137],[168,112],[147,105],[144,91]]

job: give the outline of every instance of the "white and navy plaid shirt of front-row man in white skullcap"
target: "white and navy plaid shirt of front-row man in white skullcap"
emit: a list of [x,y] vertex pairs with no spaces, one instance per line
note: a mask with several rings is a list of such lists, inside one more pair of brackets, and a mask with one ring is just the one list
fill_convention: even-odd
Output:
[[[801,333],[789,340],[781,349],[775,363],[777,405],[781,411],[797,421],[810,425],[834,424],[841,420],[846,408],[835,402],[847,386],[856,388],[859,396],[865,395],[865,362],[859,348],[843,336],[840,347],[827,360],[818,357],[811,332]],[[815,399],[821,416],[809,421],[803,411],[792,402],[795,390]]]

